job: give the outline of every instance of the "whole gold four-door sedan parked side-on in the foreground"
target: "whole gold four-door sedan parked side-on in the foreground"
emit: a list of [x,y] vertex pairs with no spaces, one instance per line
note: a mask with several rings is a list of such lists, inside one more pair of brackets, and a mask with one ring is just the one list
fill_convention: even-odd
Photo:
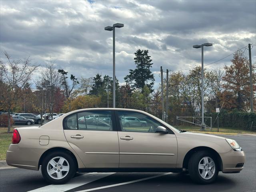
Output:
[[[101,121],[87,123],[88,116]],[[146,126],[125,126],[121,121],[126,117]],[[93,108],[41,127],[14,129],[6,162],[30,170],[41,166],[52,184],[68,182],[78,171],[188,172],[195,182],[209,184],[220,171],[239,173],[245,155],[235,140],[179,131],[140,110]]]

